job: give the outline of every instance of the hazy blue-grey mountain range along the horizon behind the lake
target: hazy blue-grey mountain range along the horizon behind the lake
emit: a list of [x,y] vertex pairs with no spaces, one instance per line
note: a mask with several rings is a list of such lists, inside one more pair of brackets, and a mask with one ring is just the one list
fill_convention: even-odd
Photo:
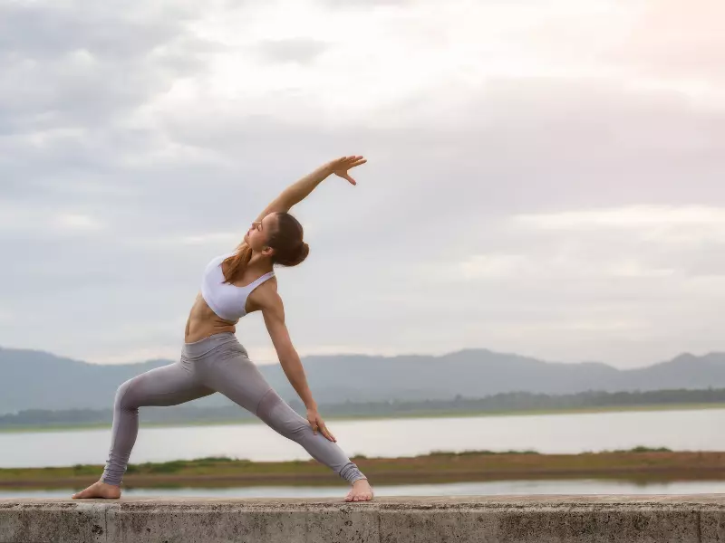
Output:
[[[171,360],[102,366],[35,350],[0,348],[0,414],[24,409],[107,408],[121,383]],[[621,370],[606,364],[563,364],[467,349],[441,357],[305,357],[305,372],[319,404],[385,400],[480,398],[503,392],[575,394],[672,388],[725,387],[725,353],[683,354],[650,367]],[[297,397],[282,368],[260,366],[282,397]],[[228,405],[223,395],[192,403]]]

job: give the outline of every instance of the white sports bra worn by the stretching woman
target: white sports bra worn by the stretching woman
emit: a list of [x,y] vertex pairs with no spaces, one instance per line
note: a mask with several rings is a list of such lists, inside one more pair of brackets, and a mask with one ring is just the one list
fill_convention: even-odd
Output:
[[227,252],[227,254],[215,256],[207,264],[201,280],[201,296],[207,302],[209,308],[221,319],[229,321],[236,321],[244,317],[247,314],[247,310],[245,309],[247,297],[251,291],[254,291],[256,287],[275,276],[274,271],[269,271],[244,287],[237,287],[225,283],[224,273],[221,271],[221,262],[233,254],[235,252]]

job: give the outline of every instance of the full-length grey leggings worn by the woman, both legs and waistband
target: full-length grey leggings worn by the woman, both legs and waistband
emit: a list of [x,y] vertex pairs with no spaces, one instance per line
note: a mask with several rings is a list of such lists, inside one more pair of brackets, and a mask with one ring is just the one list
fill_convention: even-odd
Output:
[[353,483],[366,479],[337,443],[285,403],[232,332],[185,343],[179,362],[157,367],[119,386],[113,406],[111,451],[101,481],[120,485],[139,431],[139,407],[179,405],[220,392],[256,414],[275,432],[299,443],[318,462]]

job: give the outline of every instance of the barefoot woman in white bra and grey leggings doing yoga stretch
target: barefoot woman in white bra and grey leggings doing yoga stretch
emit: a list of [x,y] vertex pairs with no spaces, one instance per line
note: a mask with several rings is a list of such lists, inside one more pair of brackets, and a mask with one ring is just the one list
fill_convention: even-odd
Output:
[[[372,500],[367,478],[345,456],[317,411],[287,333],[273,271],[275,264],[296,266],[309,252],[302,226],[287,213],[289,209],[332,174],[355,185],[348,170],[365,162],[362,157],[338,158],[287,187],[259,214],[235,252],[208,263],[187,320],[179,362],[135,376],[119,387],[102,477],[73,498],[121,497],[121,478],[139,430],[139,407],[179,405],[220,392],[350,482],[353,488],[345,501]],[[234,335],[237,321],[253,311],[262,311],[285,375],[307,408],[306,421],[267,384]]]

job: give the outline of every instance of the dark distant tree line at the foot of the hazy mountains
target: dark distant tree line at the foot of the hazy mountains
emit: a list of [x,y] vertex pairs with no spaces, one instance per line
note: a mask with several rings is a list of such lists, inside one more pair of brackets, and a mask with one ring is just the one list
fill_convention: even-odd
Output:
[[[404,416],[411,414],[497,413],[517,411],[544,411],[585,409],[596,407],[626,407],[646,405],[725,404],[725,388],[701,390],[675,389],[634,392],[586,391],[577,394],[547,395],[530,392],[508,392],[483,398],[465,398],[456,395],[451,400],[422,400],[387,402],[345,402],[320,405],[326,416]],[[297,400],[289,404],[300,414],[304,405]],[[254,418],[237,405],[221,407],[144,407],[140,409],[142,422],[150,423],[205,423],[229,422]],[[0,428],[54,425],[111,424],[111,409],[26,409],[15,414],[0,415]]]

